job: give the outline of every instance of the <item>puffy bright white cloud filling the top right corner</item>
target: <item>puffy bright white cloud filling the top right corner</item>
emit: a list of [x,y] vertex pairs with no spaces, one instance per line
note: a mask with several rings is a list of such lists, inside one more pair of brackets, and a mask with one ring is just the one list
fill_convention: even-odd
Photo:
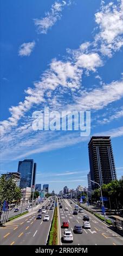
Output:
[[102,3],[101,10],[95,14],[95,21],[99,26],[99,33],[95,36],[95,41],[101,41],[101,52],[109,57],[111,50],[117,51],[123,45],[123,0],[118,1],[118,5],[113,2],[105,5]]

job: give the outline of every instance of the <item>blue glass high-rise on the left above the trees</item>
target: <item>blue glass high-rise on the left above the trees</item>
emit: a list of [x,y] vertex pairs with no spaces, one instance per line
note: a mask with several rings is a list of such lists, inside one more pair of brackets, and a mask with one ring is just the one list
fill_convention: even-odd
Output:
[[23,161],[19,161],[17,172],[21,174],[21,188],[35,188],[36,163],[34,163],[33,159],[25,159]]

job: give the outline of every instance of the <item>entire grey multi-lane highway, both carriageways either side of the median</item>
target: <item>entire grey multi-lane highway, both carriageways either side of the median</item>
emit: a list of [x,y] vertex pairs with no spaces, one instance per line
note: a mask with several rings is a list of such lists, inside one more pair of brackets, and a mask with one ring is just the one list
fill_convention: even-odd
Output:
[[[59,227],[60,227],[60,242],[61,245],[122,245],[123,237],[115,233],[105,223],[102,223],[95,216],[84,210],[83,213],[78,212],[78,215],[73,215],[75,203],[71,199],[63,199],[61,202],[63,208],[59,208]],[[36,220],[38,215],[38,209],[43,205],[46,207],[49,204],[48,199],[37,206],[33,212],[29,212],[25,216],[17,218],[14,221],[5,224],[5,227],[0,228],[0,245],[46,245],[51,220],[53,217],[53,210],[46,210],[46,214],[50,216],[48,222],[43,221],[43,217],[46,214],[42,214],[41,220]],[[65,208],[68,211],[65,211]],[[88,215],[90,219],[90,229],[82,229],[82,234],[74,234],[74,225],[83,225],[83,215]],[[63,231],[62,222],[67,221],[69,223],[69,230],[72,231],[74,241],[72,243],[65,243],[62,240]]]

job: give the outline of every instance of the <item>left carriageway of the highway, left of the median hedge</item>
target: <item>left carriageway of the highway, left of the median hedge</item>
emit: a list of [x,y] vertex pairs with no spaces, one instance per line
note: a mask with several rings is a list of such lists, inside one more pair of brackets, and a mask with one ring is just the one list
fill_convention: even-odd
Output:
[[[46,245],[51,219],[53,217],[54,210],[46,210],[46,214],[42,214],[41,220],[36,220],[38,215],[38,209],[43,205],[49,204],[48,199],[37,206],[37,210],[26,214],[17,220],[8,222],[5,227],[1,227],[1,245]],[[43,221],[45,215],[50,216],[50,220],[47,222]]]

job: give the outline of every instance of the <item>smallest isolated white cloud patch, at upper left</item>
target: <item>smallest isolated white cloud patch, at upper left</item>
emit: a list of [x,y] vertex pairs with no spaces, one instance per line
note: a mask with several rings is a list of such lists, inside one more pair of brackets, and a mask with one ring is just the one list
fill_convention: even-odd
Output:
[[18,51],[19,56],[30,56],[31,52],[35,47],[35,41],[33,42],[24,42]]

